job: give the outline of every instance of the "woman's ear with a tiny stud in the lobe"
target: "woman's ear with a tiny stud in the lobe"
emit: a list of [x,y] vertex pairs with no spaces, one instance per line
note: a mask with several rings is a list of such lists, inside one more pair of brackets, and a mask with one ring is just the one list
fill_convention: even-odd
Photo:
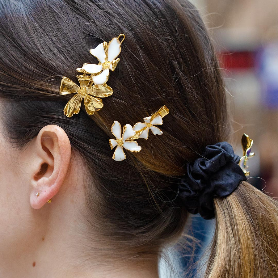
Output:
[[38,209],[55,196],[64,183],[70,167],[71,146],[65,131],[51,124],[40,130],[31,149],[28,150],[33,153],[30,204]]

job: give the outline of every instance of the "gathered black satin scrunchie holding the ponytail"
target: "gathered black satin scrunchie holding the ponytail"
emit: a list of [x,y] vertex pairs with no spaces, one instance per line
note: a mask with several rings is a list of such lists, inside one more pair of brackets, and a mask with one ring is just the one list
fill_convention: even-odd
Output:
[[239,160],[233,147],[224,141],[207,145],[202,157],[187,164],[187,174],[178,181],[178,196],[189,213],[200,213],[204,219],[215,217],[213,198],[228,196],[247,179],[237,164]]

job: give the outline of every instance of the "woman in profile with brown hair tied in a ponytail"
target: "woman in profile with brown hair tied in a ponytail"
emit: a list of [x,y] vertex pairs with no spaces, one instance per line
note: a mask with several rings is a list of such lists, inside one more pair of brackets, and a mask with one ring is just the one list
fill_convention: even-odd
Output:
[[[190,216],[173,180],[232,135],[200,15],[176,0],[0,3],[0,276],[158,277],[162,248],[182,241]],[[92,116],[84,104],[65,116],[61,78],[77,82],[76,68],[97,63],[89,49],[120,33],[113,95]],[[135,124],[163,105],[163,135],[112,159],[113,122]],[[203,276],[278,277],[276,201],[243,179],[210,201]]]

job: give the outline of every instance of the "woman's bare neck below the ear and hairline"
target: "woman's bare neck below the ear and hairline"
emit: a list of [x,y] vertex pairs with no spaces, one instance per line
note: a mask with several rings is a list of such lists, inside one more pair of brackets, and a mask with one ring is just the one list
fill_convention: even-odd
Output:
[[32,221],[28,222],[25,234],[14,239],[9,252],[2,254],[0,250],[0,277],[159,277],[157,257],[138,261],[118,255],[115,259],[111,251],[104,252],[107,246],[100,243],[97,234],[91,235],[93,243],[86,242],[80,233],[86,227],[80,224],[81,216],[77,213],[80,208],[73,199],[56,196],[51,207],[30,208]]

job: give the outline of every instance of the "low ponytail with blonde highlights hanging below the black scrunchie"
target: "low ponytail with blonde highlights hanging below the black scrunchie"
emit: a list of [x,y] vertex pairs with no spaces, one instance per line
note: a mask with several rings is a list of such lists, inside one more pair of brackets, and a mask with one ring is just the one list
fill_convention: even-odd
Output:
[[278,277],[278,204],[242,181],[214,199],[216,218],[206,278]]

